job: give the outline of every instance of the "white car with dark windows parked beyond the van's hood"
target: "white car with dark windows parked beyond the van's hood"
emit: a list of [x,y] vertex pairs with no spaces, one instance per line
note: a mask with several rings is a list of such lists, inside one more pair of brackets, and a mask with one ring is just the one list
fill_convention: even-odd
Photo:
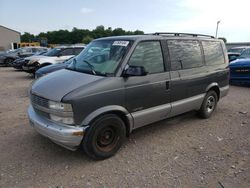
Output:
[[22,68],[28,73],[35,73],[41,67],[64,62],[65,60],[78,55],[83,49],[84,46],[56,47],[44,54],[44,56],[29,58]]

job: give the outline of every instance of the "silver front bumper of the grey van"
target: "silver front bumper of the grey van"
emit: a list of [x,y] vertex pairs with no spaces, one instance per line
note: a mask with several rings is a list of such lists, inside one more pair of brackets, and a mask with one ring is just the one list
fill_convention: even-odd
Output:
[[81,144],[87,127],[61,125],[38,115],[33,107],[28,108],[30,124],[41,135],[69,150],[76,150]]

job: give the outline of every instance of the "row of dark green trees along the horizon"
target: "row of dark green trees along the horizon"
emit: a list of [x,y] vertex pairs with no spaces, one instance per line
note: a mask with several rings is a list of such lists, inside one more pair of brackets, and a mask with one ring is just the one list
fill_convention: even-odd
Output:
[[108,36],[119,36],[119,35],[141,35],[144,34],[143,31],[125,31],[122,28],[112,29],[111,27],[105,28],[100,25],[93,30],[89,29],[78,29],[74,27],[72,31],[68,30],[58,30],[58,31],[48,31],[41,32],[38,35],[33,35],[25,32],[21,35],[21,42],[41,42],[48,44],[77,44],[84,43],[88,44],[91,40],[108,37]]

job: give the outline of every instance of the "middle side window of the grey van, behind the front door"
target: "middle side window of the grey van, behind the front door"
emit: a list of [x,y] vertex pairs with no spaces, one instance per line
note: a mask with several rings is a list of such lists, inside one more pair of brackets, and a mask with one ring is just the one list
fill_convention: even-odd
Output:
[[194,40],[168,40],[171,70],[190,69],[203,65],[201,48]]

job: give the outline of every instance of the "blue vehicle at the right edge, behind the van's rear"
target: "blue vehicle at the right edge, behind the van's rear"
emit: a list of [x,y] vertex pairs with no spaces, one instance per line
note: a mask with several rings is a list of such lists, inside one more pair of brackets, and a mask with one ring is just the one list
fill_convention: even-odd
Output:
[[231,84],[250,84],[250,48],[229,64]]

